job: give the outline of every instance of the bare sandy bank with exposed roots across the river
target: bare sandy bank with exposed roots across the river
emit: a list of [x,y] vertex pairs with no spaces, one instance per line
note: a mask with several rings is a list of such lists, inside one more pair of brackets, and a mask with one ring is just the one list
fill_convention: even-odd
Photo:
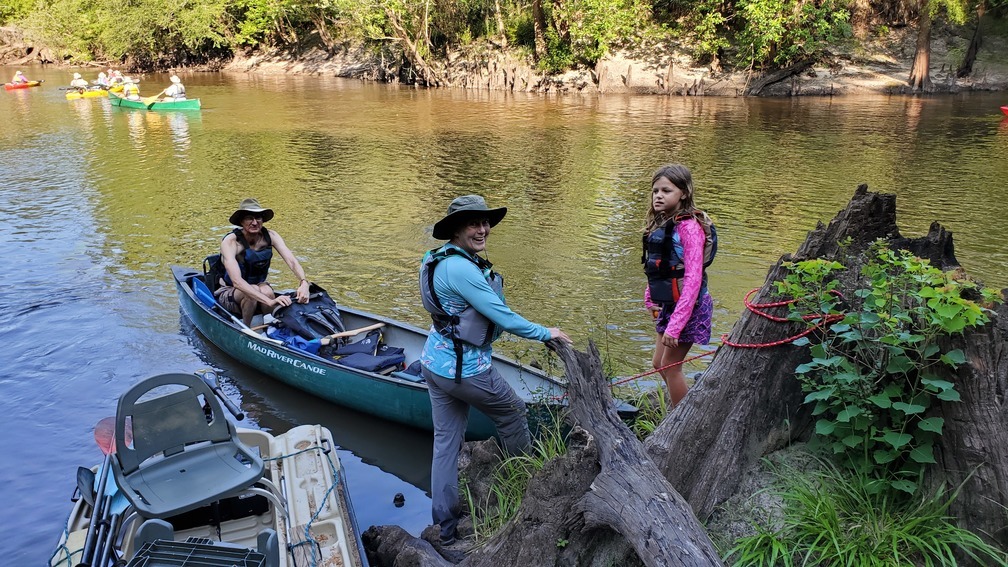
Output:
[[[935,26],[931,39],[931,81],[935,93],[1008,90],[1008,34],[985,34],[973,73],[957,78],[973,29]],[[841,96],[910,91],[915,30],[904,27],[884,36],[833,45],[799,73],[764,86],[761,96]],[[497,48],[471,47],[443,62],[450,88],[533,93],[652,94],[740,96],[765,80],[758,72],[720,71],[700,65],[687,46],[673,41],[645,42],[603,58],[594,69],[555,76],[537,72],[525,55]],[[332,52],[255,52],[236,56],[225,69],[264,74],[314,74],[376,81],[398,81],[406,73],[394,47],[375,52],[361,46]],[[769,74],[766,74],[769,75]]]

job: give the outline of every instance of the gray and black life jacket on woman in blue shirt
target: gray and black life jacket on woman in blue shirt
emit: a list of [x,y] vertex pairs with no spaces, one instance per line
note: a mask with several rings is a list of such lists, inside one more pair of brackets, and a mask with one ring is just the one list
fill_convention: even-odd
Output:
[[451,255],[461,256],[475,263],[498,296],[504,294],[504,276],[492,269],[493,264],[490,260],[479,255],[471,256],[452,246],[434,248],[423,258],[423,263],[420,265],[420,300],[423,302],[423,309],[430,313],[434,330],[452,339],[456,354],[455,379],[458,382],[462,380],[463,343],[478,347],[486,346],[497,340],[501,333],[492,321],[471,305],[467,305],[458,315],[451,315],[445,311],[437,294],[434,293],[434,267]]

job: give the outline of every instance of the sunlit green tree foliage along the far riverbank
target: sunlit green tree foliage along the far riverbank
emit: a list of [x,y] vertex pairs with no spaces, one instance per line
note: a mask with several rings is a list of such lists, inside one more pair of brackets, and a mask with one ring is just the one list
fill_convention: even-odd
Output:
[[[992,13],[1008,0],[987,0]],[[695,54],[741,68],[815,56],[858,21],[908,23],[907,0],[8,0],[0,24],[72,61],[138,66],[197,62],[238,49],[333,49],[347,40],[399,41],[444,58],[480,41],[534,53],[540,69],[595,65],[642,36],[678,37]],[[925,0],[920,17],[965,21],[966,0]],[[537,19],[536,16],[539,16]],[[900,21],[897,21],[900,20]],[[860,24],[859,24],[860,25]],[[406,45],[408,44],[408,45]]]

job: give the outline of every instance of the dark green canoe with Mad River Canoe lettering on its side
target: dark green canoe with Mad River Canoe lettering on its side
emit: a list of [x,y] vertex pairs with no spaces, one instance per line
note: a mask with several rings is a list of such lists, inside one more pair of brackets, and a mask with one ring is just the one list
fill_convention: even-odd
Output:
[[[171,266],[182,313],[225,353],[288,385],[334,404],[406,426],[433,430],[427,385],[419,376],[401,370],[378,373],[344,366],[333,358],[323,358],[290,348],[279,341],[241,329],[230,319],[201,302],[193,280],[203,280],[203,272]],[[384,324],[383,341],[405,350],[405,365],[417,360],[427,332],[418,327],[353,309],[340,308],[347,329]],[[359,335],[363,337],[364,334]],[[355,339],[350,339],[355,340]],[[503,356],[494,356],[494,367],[529,406],[530,425],[535,427],[544,405],[565,405],[566,386],[557,378]],[[636,413],[633,406],[618,402],[624,416]],[[471,410],[469,439],[489,439],[495,435],[493,422]]]

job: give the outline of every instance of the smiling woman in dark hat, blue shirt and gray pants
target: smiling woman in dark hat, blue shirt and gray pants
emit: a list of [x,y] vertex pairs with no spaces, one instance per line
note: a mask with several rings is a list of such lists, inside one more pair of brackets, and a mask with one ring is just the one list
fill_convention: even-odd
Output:
[[478,195],[452,201],[448,215],[433,227],[433,237],[448,240],[423,256],[420,298],[433,325],[420,353],[434,425],[430,465],[431,518],[440,526],[440,543],[458,537],[459,452],[472,406],[493,420],[508,455],[530,447],[525,403],[492,365],[492,343],[507,331],[537,341],[571,343],[556,327],[536,325],[504,302],[504,280],[479,255],[490,229],[507,208],[487,208]]

